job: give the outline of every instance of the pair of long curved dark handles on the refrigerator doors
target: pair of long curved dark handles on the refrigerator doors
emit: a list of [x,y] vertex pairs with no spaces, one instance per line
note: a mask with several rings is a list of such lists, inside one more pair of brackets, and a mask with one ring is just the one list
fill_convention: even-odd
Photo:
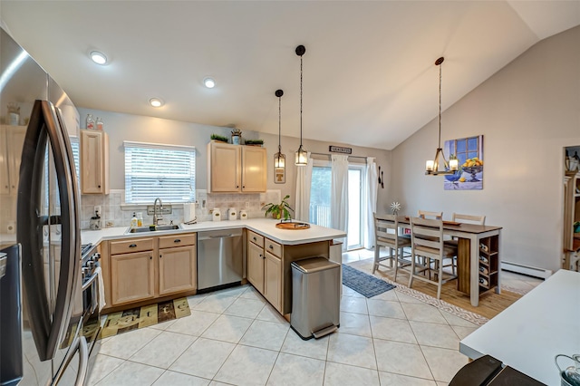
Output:
[[[60,112],[50,101],[34,101],[24,139],[18,187],[17,239],[23,247],[22,271],[29,304],[30,327],[42,361],[52,359],[72,314],[74,291],[79,290],[81,240],[77,180],[68,134]],[[61,203],[62,248],[56,301],[51,310],[44,290],[41,188],[47,140],[53,150]],[[32,196],[32,197],[31,197]],[[50,221],[49,217],[49,221]]]

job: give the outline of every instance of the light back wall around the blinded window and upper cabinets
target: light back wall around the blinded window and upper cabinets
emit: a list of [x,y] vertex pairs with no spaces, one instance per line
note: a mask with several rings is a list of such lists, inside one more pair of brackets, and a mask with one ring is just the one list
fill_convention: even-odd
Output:
[[[184,121],[171,121],[159,118],[152,118],[139,115],[124,114],[112,111],[97,111],[92,109],[79,108],[81,114],[81,126],[84,127],[84,121],[88,113],[93,118],[100,117],[104,123],[104,131],[109,134],[110,146],[110,179],[111,189],[124,189],[124,150],[123,140],[133,140],[140,142],[154,142],[164,144],[176,144],[195,146],[196,155],[196,188],[206,189],[208,179],[208,154],[206,146],[211,134],[216,133],[230,137],[231,129],[217,126],[201,125],[198,123],[189,123]],[[267,188],[280,189],[282,197],[290,195],[290,205],[295,207],[295,169],[294,165],[295,150],[298,149],[300,140],[291,137],[282,137],[282,152],[286,156],[286,182],[285,184],[274,183],[274,154],[278,151],[278,136],[265,134],[251,130],[242,130],[244,139],[262,139],[267,149]],[[283,128],[284,131],[284,128]],[[308,151],[328,153],[328,145],[346,146],[353,148],[353,155],[361,157],[375,157],[377,164],[385,170],[385,178],[388,176],[390,169],[390,151],[355,147],[348,144],[336,142],[323,142],[318,140],[303,140],[304,148]],[[379,188],[378,207],[387,207],[388,187]]]

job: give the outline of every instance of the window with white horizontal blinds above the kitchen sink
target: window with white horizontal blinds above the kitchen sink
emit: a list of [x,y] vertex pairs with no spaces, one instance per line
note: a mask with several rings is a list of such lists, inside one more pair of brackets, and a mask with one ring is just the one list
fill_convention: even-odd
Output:
[[151,203],[195,200],[196,148],[141,142],[125,147],[125,202]]

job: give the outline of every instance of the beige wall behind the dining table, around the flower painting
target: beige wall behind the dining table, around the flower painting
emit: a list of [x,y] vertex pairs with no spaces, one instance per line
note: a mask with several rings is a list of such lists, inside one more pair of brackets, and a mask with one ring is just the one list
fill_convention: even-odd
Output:
[[441,142],[484,135],[483,190],[443,190],[443,177],[424,175],[437,130],[435,119],[392,150],[391,199],[411,215],[486,215],[503,227],[503,260],[558,269],[564,147],[580,145],[580,27],[536,43],[444,111]]

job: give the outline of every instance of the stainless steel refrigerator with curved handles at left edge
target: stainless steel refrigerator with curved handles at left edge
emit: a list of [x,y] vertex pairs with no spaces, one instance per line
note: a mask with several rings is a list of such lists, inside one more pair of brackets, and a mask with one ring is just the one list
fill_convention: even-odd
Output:
[[78,112],[4,29],[0,69],[0,384],[82,384]]

